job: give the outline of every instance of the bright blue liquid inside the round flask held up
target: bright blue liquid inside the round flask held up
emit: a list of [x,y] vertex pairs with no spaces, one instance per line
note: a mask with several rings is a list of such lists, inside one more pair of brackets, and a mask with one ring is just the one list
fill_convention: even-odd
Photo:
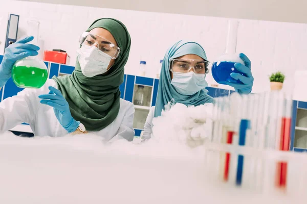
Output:
[[231,83],[238,83],[238,84],[243,84],[240,82],[240,80],[235,80],[232,77],[230,77],[230,73],[240,73],[244,76],[246,76],[243,72],[240,72],[234,68],[235,62],[214,62],[212,65],[212,76],[214,80],[218,84],[226,84],[227,82]]

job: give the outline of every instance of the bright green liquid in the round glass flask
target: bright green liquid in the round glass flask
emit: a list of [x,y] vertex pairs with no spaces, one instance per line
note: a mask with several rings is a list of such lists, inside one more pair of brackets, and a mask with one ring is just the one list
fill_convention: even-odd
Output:
[[13,82],[22,88],[40,88],[48,78],[48,71],[37,67],[13,66]]

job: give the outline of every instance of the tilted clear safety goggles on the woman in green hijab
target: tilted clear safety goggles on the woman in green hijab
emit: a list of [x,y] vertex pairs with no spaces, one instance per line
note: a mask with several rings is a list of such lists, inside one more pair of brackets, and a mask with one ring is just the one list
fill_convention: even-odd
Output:
[[89,33],[89,32],[83,32],[80,36],[79,40],[80,45],[83,44],[88,46],[97,46],[99,50],[101,50],[103,53],[107,54],[108,56],[111,56],[112,59],[116,59],[119,56],[120,48],[113,44],[112,42],[106,40],[103,37],[100,37],[98,35]]

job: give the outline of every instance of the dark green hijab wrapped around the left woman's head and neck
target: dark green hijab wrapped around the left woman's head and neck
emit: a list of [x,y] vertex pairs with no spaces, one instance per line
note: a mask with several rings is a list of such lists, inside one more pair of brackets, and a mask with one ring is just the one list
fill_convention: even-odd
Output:
[[73,118],[80,121],[87,131],[100,131],[111,124],[120,108],[119,86],[124,79],[124,66],[129,57],[130,35],[125,25],[113,18],[101,18],[93,22],[87,32],[103,28],[115,38],[121,52],[114,65],[105,74],[85,77],[76,62],[71,75],[53,77],[58,89],[68,101]]

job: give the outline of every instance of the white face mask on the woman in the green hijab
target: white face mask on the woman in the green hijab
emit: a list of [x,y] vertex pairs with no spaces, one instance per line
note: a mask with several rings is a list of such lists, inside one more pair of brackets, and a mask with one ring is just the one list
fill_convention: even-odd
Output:
[[85,77],[95,77],[106,72],[112,59],[95,46],[82,45],[77,50],[78,61]]

